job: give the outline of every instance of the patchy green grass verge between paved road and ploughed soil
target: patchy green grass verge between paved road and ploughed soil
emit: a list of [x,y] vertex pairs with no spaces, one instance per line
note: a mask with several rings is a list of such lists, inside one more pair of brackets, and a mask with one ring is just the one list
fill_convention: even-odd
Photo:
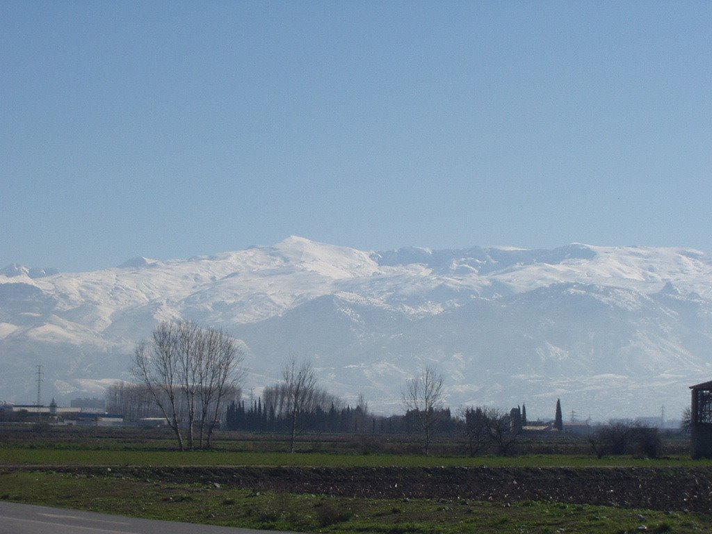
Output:
[[255,493],[215,484],[52,472],[0,473],[0,498],[137,517],[328,533],[693,533],[712,515],[561,503],[353,499]]

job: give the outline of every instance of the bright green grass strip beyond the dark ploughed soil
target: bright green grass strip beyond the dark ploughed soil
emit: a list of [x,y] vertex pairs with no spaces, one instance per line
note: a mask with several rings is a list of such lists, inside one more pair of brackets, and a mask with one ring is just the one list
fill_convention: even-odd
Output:
[[686,456],[634,459],[629,456],[419,456],[393,454],[312,454],[222,451],[75,450],[53,447],[0,447],[1,465],[68,466],[309,466],[309,467],[709,467],[711,461]]

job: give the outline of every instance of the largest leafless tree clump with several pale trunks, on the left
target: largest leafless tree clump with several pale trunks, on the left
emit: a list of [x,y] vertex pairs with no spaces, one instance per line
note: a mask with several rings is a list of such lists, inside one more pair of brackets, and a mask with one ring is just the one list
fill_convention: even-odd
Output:
[[209,446],[225,396],[240,378],[242,360],[236,340],[222,330],[206,330],[188,321],[164,322],[150,341],[137,345],[133,374],[174,431],[178,448],[186,448],[185,427],[187,448],[194,449],[196,422],[199,446],[205,431]]

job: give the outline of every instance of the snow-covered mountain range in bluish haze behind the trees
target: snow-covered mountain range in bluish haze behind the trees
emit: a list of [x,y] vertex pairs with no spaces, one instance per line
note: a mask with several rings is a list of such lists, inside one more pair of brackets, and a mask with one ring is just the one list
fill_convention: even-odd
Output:
[[290,355],[320,384],[399,411],[405,380],[434,364],[448,403],[530,417],[677,417],[712,379],[712,257],[686,248],[571,244],[359,251],[290,237],[187,260],[132,258],[87,273],[0,271],[0,400],[102,394],[129,379],[135,342],[187,318],[245,343],[246,389]]

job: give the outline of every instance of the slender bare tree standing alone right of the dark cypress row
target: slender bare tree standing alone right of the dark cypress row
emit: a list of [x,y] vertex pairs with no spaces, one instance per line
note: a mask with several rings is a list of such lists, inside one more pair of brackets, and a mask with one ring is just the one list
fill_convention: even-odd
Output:
[[444,401],[443,382],[443,375],[429,365],[419,375],[409,379],[403,392],[404,407],[415,412],[425,434],[426,455],[429,454],[431,433]]

